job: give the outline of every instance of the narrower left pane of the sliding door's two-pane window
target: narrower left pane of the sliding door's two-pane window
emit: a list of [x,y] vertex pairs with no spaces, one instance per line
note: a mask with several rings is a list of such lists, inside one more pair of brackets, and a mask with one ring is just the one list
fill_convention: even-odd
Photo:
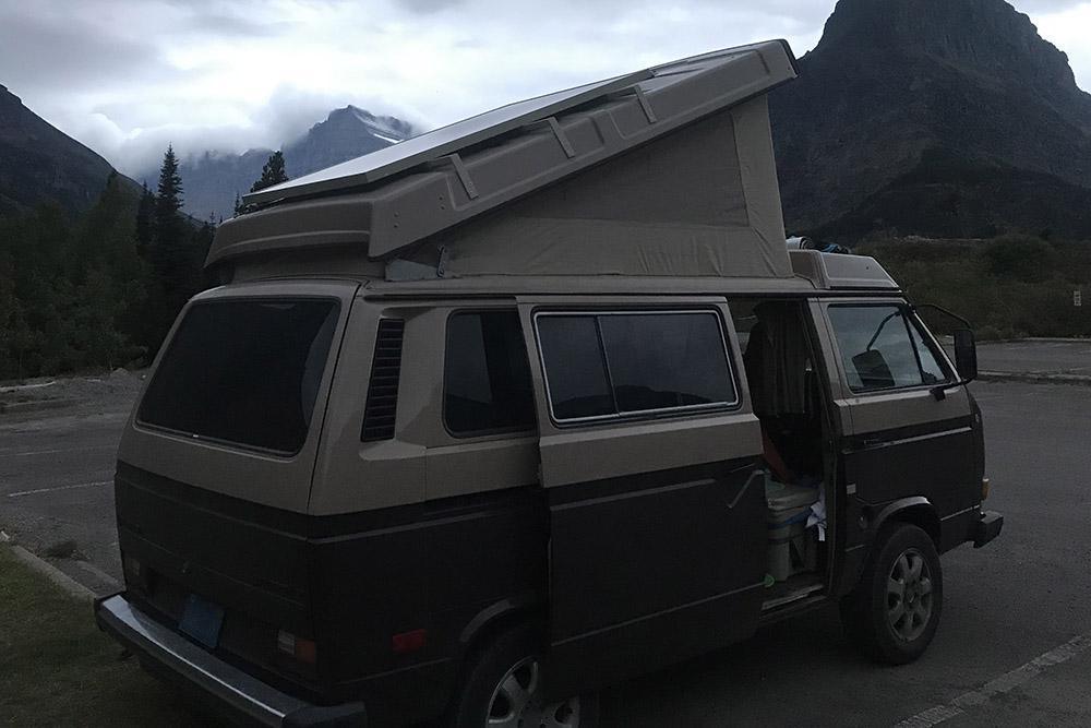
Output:
[[538,346],[558,419],[613,415],[613,396],[594,317],[541,317]]

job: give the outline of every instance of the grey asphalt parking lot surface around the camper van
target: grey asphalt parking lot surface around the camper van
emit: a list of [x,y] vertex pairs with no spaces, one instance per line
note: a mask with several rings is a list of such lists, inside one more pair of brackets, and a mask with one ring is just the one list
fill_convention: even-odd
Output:
[[[1091,343],[1044,344],[985,345],[982,368],[1091,373]],[[862,660],[827,609],[611,689],[607,725],[1091,725],[1091,386],[973,391],[1005,529],[944,558],[943,622],[920,661]],[[120,574],[109,480],[129,406],[0,415],[0,528],[39,554],[74,541],[82,558],[53,563],[100,593]]]

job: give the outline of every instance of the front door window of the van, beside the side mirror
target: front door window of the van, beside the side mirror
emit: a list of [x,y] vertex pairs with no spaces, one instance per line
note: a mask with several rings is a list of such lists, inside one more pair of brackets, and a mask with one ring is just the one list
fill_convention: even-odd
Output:
[[831,306],[829,321],[853,392],[944,381],[943,369],[903,307]]

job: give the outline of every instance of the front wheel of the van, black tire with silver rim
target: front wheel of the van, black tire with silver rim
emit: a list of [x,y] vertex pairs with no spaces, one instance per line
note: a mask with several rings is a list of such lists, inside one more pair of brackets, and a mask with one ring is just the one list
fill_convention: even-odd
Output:
[[895,523],[875,539],[856,588],[841,600],[841,623],[872,659],[912,663],[939,626],[944,577],[932,538],[918,526]]

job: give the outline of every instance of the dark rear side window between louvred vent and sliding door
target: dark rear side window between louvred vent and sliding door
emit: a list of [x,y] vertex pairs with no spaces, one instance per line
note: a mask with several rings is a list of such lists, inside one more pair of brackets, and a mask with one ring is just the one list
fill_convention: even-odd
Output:
[[443,418],[453,434],[535,428],[533,385],[517,312],[453,314],[443,379]]

